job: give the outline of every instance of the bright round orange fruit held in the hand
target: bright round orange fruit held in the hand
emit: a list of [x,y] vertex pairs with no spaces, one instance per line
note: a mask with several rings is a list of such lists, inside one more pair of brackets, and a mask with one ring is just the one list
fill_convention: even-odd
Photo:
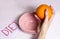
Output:
[[53,10],[50,6],[46,5],[46,4],[42,4],[40,5],[37,9],[36,9],[36,14],[40,19],[44,19],[45,17],[45,10],[48,10],[48,19],[51,18],[52,14],[53,14]]

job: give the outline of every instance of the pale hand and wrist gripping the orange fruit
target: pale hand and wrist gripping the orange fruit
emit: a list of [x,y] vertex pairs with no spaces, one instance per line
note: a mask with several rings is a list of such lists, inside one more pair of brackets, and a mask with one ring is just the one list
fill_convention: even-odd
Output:
[[51,21],[53,20],[53,17],[54,17],[54,13],[52,14],[52,17],[50,18],[50,20],[48,20],[48,10],[46,10],[45,12],[46,14],[46,17],[44,19],[44,22],[42,23],[42,27],[39,29],[40,32],[39,32],[39,36],[37,39],[45,39],[45,36],[46,36],[46,33],[47,33],[47,30],[49,28],[49,25],[51,23]]

